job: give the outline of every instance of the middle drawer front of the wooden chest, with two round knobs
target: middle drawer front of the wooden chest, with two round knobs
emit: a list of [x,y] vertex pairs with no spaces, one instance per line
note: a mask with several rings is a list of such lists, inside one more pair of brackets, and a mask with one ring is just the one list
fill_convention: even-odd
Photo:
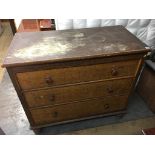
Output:
[[133,78],[114,81],[92,82],[60,88],[25,92],[29,107],[62,104],[88,98],[128,94]]

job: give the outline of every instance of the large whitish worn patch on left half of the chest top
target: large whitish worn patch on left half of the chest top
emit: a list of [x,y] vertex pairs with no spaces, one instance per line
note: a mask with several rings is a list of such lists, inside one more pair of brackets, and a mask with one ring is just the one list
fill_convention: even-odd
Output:
[[85,46],[82,33],[76,35],[72,41],[62,40],[61,38],[46,37],[41,42],[35,43],[23,49],[16,50],[15,57],[22,59],[33,59],[43,56],[63,55],[73,48]]

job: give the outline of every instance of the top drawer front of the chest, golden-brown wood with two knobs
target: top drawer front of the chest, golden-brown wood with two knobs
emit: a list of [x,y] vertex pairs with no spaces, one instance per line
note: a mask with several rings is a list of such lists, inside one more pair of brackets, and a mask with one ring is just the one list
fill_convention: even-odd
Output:
[[135,76],[138,60],[17,73],[23,90]]

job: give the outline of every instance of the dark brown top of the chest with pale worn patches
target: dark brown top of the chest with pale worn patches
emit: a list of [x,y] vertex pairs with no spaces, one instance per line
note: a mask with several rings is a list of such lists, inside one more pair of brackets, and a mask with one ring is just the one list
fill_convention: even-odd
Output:
[[16,33],[3,67],[149,51],[122,26]]

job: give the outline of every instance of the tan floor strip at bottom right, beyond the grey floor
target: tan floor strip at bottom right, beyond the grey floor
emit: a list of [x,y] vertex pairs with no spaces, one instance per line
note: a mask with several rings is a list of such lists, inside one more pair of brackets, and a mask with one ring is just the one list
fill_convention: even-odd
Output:
[[141,135],[141,129],[155,127],[155,117],[127,121],[96,128],[72,131],[71,135]]

